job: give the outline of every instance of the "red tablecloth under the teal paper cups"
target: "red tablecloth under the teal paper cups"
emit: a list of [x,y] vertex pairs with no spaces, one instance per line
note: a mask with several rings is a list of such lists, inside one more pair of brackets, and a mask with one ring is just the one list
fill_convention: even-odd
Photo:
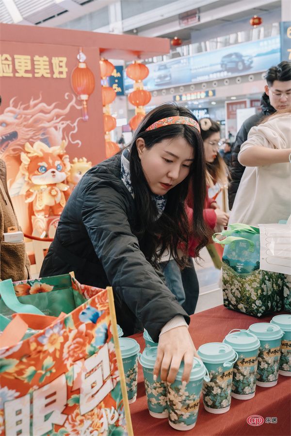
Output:
[[[258,319],[218,306],[194,314],[191,317],[189,332],[195,347],[198,348],[206,342],[222,341],[233,328],[248,328],[250,324],[269,322],[271,318],[272,316]],[[133,338],[139,342],[142,351],[145,347],[142,335],[134,335]],[[129,407],[134,436],[173,436],[178,433],[197,436],[290,436],[291,377],[279,375],[278,384],[273,388],[257,386],[256,395],[251,400],[242,401],[232,398],[230,410],[221,415],[206,412],[201,395],[194,429],[179,432],[169,426],[167,419],[156,419],[149,415],[143,371],[139,365],[137,400]],[[276,418],[277,423],[264,422],[260,426],[251,426],[246,421],[250,415],[260,415],[264,419]]]

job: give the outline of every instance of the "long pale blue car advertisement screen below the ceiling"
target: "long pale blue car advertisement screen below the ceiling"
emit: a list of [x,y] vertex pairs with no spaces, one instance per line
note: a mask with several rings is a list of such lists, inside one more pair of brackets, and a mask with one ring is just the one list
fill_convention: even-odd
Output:
[[[224,79],[265,71],[280,62],[280,36],[248,41],[209,52],[147,64],[149,75],[144,80],[147,90],[168,88],[201,81]],[[125,92],[133,90],[126,75]]]

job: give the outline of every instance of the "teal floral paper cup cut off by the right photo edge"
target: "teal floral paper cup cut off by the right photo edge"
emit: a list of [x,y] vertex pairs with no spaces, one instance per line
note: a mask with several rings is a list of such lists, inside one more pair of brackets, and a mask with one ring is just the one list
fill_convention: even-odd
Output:
[[279,374],[291,376],[291,315],[276,315],[271,320],[284,332],[281,339]]

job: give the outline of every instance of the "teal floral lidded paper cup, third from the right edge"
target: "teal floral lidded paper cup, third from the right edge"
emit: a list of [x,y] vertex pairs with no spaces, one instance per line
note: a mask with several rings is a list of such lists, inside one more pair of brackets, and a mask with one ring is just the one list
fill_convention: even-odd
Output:
[[247,330],[234,329],[223,343],[230,345],[239,356],[233,366],[231,396],[250,400],[256,393],[259,339]]

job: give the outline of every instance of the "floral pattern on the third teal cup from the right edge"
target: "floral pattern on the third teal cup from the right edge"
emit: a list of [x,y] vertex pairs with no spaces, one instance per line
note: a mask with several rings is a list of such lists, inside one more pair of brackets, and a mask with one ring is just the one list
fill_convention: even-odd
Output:
[[[251,360],[251,363],[248,362]],[[246,364],[244,365],[244,362]],[[238,395],[249,395],[256,391],[257,356],[244,358],[240,355],[233,367],[232,392]]]

